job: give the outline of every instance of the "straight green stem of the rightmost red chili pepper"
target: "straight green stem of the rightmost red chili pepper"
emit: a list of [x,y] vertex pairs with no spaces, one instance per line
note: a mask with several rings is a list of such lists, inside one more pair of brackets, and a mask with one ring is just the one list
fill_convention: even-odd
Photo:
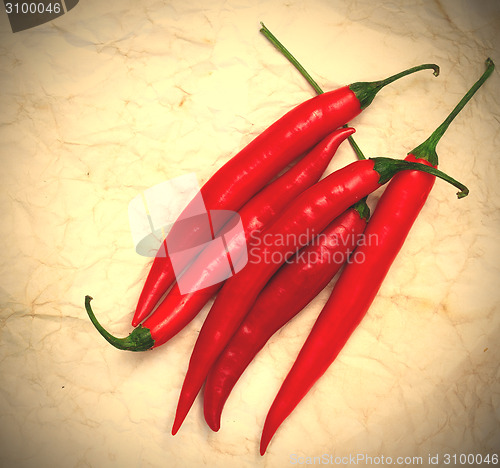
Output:
[[489,78],[489,76],[493,73],[495,69],[495,64],[493,60],[490,58],[486,59],[486,71],[481,75],[481,78],[477,80],[474,85],[467,91],[464,97],[460,100],[460,102],[456,105],[456,107],[450,112],[448,117],[444,120],[444,122],[434,130],[427,140],[417,146],[413,151],[410,151],[409,154],[413,154],[416,158],[425,159],[430,162],[433,166],[438,165],[438,155],[436,153],[436,146],[439,143],[439,140],[444,135],[446,130],[448,129],[450,123],[453,119],[459,114],[459,112],[465,107],[465,105],[470,101],[472,96],[477,92],[477,90],[483,85],[483,83]]

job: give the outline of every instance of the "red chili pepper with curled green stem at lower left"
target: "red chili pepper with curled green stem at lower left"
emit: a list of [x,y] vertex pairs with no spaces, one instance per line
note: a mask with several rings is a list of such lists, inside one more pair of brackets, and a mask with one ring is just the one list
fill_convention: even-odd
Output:
[[[245,235],[225,236],[225,247],[230,252],[233,264],[238,261],[243,249],[247,249],[247,244],[256,232],[264,229],[289,202],[321,178],[340,144],[353,133],[353,128],[341,128],[328,135],[295,166],[264,187],[243,206],[239,215]],[[226,248],[221,250],[218,244],[212,244],[203,250],[183,274],[186,276],[183,280],[191,285],[192,290],[181,294],[176,283],[154,313],[129,336],[117,338],[107,332],[95,318],[89,303],[87,311],[90,310],[92,322],[101,335],[118,349],[145,351],[164,344],[182,330],[222,287],[222,283],[205,286],[203,281],[207,277],[223,276]]]

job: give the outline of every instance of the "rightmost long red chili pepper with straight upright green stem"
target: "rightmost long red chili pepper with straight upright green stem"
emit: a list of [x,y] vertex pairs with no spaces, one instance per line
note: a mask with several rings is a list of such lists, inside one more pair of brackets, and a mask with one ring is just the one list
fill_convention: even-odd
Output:
[[[408,154],[409,161],[437,166],[436,145],[451,121],[491,75],[494,64],[486,61],[482,77],[463,97],[446,120],[420,146]],[[362,263],[346,266],[325,307],[271,405],[264,423],[260,452],[264,454],[274,433],[314,383],[326,372],[365,316],[395,257],[420,213],[435,178],[406,171],[398,174],[382,194],[365,235],[377,239],[356,250]]]

